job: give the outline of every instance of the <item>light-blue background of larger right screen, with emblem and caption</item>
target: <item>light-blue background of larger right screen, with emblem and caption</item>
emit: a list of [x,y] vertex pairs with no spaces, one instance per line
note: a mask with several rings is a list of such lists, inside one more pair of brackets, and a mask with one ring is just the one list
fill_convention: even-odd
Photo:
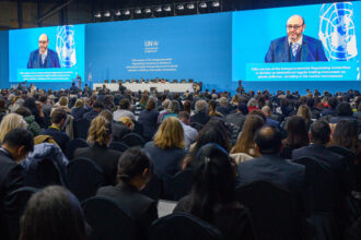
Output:
[[[319,47],[313,50],[304,37],[302,53],[311,52],[305,53],[306,62],[288,62],[284,58],[289,58],[289,49],[284,57],[280,44],[273,45],[278,47],[276,53],[269,50],[272,40],[287,36],[287,21],[294,14],[305,21],[304,35],[319,40]],[[306,88],[360,88],[360,2],[234,12],[232,23],[232,81],[243,80],[246,88],[302,93]],[[321,50],[325,51],[324,59],[316,53]],[[268,51],[273,58],[266,59]]]

